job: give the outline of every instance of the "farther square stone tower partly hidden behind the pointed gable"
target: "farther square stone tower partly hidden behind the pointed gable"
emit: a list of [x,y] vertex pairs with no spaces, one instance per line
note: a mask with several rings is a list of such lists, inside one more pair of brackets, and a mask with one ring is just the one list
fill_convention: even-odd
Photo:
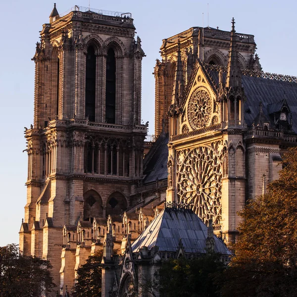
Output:
[[[255,53],[256,44],[253,35],[236,33],[238,60],[241,69],[259,71],[261,65]],[[210,65],[227,67],[230,48],[230,31],[210,27],[193,27],[170,38],[163,39],[160,48],[161,60],[156,61],[155,76],[155,135],[162,131],[165,120],[165,132],[169,132],[167,115],[171,104],[175,83],[175,73],[180,56],[180,73],[183,76],[181,85],[185,88],[191,77],[197,58]]]

